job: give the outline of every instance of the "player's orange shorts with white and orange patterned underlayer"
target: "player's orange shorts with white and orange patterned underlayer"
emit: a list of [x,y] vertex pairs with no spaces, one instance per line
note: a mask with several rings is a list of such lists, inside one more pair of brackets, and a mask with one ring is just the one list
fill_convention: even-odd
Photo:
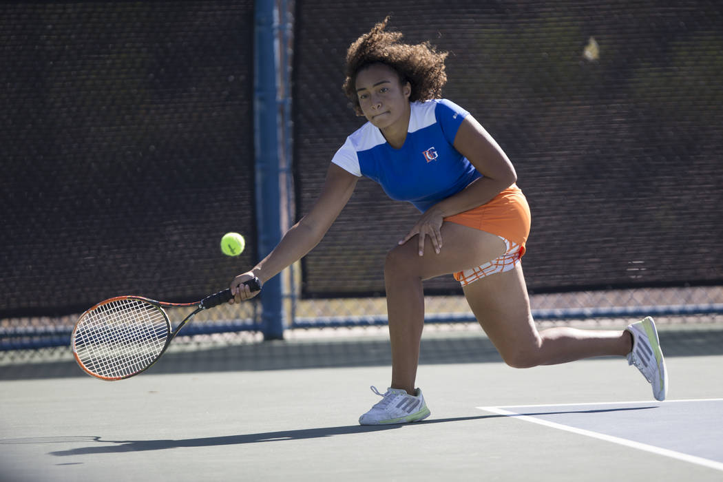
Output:
[[525,254],[525,244],[530,233],[530,220],[530,207],[527,205],[527,199],[515,184],[497,194],[485,205],[445,218],[445,221],[450,223],[495,234],[502,238],[506,248],[505,253],[497,259],[471,267],[469,270],[456,272],[455,280],[458,280],[462,286],[466,286],[485,276],[512,270]]

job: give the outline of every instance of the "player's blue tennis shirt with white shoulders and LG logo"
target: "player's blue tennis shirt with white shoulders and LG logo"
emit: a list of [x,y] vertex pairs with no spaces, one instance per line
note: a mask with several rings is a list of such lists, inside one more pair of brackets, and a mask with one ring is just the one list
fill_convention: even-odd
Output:
[[380,129],[367,122],[346,138],[332,162],[355,176],[377,181],[392,199],[411,202],[424,212],[482,177],[453,146],[468,114],[445,99],[413,102],[400,149],[390,146]]

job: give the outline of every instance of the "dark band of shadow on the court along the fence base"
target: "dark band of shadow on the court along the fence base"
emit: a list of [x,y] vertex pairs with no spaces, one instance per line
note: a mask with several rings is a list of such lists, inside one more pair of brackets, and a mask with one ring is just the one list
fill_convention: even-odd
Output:
[[[663,330],[667,357],[723,355],[723,330]],[[421,364],[501,362],[495,346],[481,332],[422,337]],[[389,366],[386,339],[278,340],[248,345],[171,350],[147,374],[209,371],[262,371],[334,367]],[[87,376],[72,360],[0,366],[0,380]]]

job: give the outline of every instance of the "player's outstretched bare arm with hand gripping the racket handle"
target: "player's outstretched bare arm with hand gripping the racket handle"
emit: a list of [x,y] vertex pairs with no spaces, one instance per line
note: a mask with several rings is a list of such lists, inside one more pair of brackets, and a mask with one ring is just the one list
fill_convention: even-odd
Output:
[[231,293],[234,294],[231,303],[252,298],[258,293],[251,293],[242,285],[245,280],[256,276],[265,283],[314,249],[346,206],[357,180],[357,176],[332,163],[322,192],[307,215],[283,235],[279,244],[253,270],[236,276],[231,282]]

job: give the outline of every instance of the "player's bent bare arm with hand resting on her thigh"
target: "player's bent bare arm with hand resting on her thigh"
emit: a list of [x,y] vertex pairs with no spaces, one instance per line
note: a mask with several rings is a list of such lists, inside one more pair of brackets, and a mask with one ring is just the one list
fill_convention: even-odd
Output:
[[484,205],[517,181],[515,168],[502,147],[471,115],[462,121],[453,145],[483,177],[430,207],[411,231],[399,241],[399,244],[404,244],[419,234],[419,256],[424,254],[424,241],[427,236],[437,253],[442,249],[441,229],[444,218]]

